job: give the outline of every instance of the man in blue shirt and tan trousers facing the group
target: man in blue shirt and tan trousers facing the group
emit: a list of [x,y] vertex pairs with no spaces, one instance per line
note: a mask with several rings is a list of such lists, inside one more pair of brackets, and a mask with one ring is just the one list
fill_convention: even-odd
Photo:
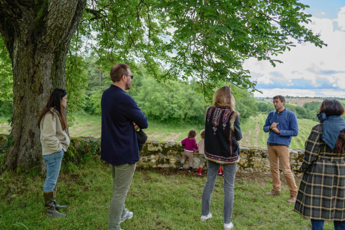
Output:
[[273,97],[275,111],[268,113],[264,132],[269,132],[267,139],[267,151],[269,166],[272,171],[273,190],[267,195],[280,195],[279,163],[284,173],[287,185],[290,189],[290,199],[287,202],[295,203],[297,198],[297,186],[290,168],[289,145],[292,137],[298,135],[298,122],[294,112],[285,109],[283,96]]

